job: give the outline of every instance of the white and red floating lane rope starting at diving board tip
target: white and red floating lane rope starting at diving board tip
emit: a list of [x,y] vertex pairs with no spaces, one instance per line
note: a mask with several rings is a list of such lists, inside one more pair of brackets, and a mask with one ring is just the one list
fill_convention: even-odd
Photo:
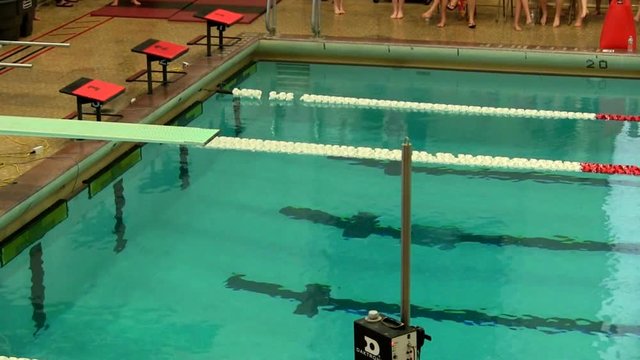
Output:
[[[288,142],[261,139],[241,139],[219,136],[205,145],[211,149],[243,150],[267,153],[285,153],[299,155],[335,156],[343,158],[374,159],[400,161],[401,150],[389,150],[346,145],[325,145],[303,142]],[[640,176],[640,167],[635,165],[613,165],[599,163],[581,163],[577,161],[509,158],[505,156],[468,155],[452,153],[431,154],[426,151],[414,151],[412,160],[417,163],[473,166],[489,168],[507,168],[516,170],[562,171],[599,174],[619,174]]]

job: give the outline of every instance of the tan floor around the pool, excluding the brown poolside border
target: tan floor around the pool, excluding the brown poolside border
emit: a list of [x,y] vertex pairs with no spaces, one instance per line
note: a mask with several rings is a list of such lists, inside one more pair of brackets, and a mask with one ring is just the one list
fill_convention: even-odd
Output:
[[[397,20],[390,18],[392,5],[389,2],[381,1],[376,4],[371,0],[345,0],[346,14],[334,15],[331,1],[324,1],[321,4],[321,33],[331,37],[491,44],[495,47],[547,46],[551,50],[568,48],[574,51],[595,51],[598,47],[604,18],[602,15],[589,16],[582,27],[570,25],[565,16],[562,25],[557,28],[552,27],[549,21],[546,26],[528,25],[523,26],[523,31],[515,31],[512,18],[501,14],[502,7],[498,1],[479,0],[476,29],[469,29],[466,20],[454,12],[449,12],[447,26],[438,28],[436,20],[424,21],[420,17],[427,9],[423,4],[406,4],[405,18]],[[22,40],[68,42],[71,46],[50,48],[36,54],[36,57],[29,60],[33,64],[32,69],[0,70],[0,114],[64,117],[75,110],[75,100],[59,93],[59,89],[80,77],[126,85],[125,95],[109,104],[112,110],[120,111],[130,104],[132,98],[146,92],[144,83],[124,81],[145,66],[144,58],[132,53],[132,47],[149,38],[185,44],[205,30],[203,24],[194,22],[89,15],[91,11],[107,3],[105,0],[80,0],[71,8],[56,7],[53,3],[39,8],[38,16],[41,20],[34,23],[33,35]],[[549,11],[549,16],[552,17],[552,6]],[[591,9],[591,13],[593,12]],[[564,13],[569,13],[566,8]],[[311,1],[281,0],[277,15],[278,35],[311,36]],[[264,18],[260,17],[252,24],[236,24],[226,34],[233,36],[239,33],[264,32]],[[11,50],[11,47],[1,48],[0,55]],[[28,52],[9,57],[3,62],[17,61]],[[190,52],[181,60],[192,62],[202,59],[204,53],[204,47],[191,47]],[[67,141],[58,139],[2,137],[0,187],[11,187],[16,181],[20,182],[23,173],[45,158],[63,161],[56,160],[56,152],[66,143]],[[37,145],[45,147],[44,154],[29,155]]]

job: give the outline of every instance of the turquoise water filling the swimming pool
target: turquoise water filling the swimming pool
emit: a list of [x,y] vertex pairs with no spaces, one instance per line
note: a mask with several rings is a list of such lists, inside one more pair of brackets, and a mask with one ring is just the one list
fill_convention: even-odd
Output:
[[[256,70],[238,86],[638,109],[625,80]],[[628,123],[239,106],[234,113],[232,98],[216,95],[191,125],[247,138],[397,148],[409,135],[419,150],[638,162]],[[422,165],[413,175],[412,323],[434,338],[423,358],[640,358],[638,180]],[[352,359],[354,320],[374,306],[397,316],[399,191],[395,163],[145,146],[118,182],[79,195],[68,220],[0,269],[0,354]]]

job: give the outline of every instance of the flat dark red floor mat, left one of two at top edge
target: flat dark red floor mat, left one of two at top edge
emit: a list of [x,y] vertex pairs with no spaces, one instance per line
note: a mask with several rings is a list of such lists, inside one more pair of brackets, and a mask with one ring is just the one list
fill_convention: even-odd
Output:
[[140,0],[142,6],[134,6],[130,0],[119,0],[119,6],[107,5],[92,11],[92,16],[168,19],[189,6],[194,0]]

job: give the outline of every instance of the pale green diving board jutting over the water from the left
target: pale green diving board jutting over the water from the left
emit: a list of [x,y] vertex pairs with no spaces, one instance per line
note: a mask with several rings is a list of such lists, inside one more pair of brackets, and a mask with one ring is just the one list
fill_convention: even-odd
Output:
[[204,146],[217,129],[0,115],[0,135]]

